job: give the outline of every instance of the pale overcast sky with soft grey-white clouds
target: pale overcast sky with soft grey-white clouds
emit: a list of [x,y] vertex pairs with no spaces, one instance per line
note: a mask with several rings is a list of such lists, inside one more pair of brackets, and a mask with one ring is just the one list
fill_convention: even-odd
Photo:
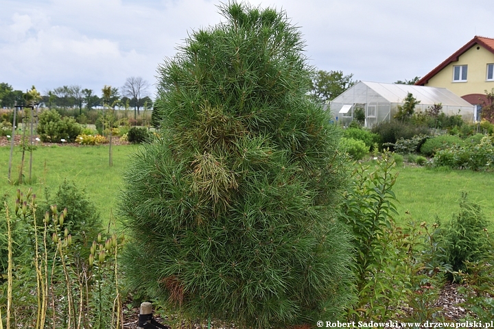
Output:
[[[423,77],[473,36],[494,38],[492,0],[251,0],[285,10],[309,64],[388,82]],[[143,77],[193,29],[216,25],[217,0],[0,0],[0,82],[42,94]]]

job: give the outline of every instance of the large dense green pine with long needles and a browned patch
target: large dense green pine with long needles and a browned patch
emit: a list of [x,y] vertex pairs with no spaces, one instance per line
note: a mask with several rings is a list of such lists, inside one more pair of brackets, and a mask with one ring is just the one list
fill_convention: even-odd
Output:
[[228,3],[160,66],[161,137],[126,172],[133,287],[185,317],[287,328],[353,301],[340,130],[284,12]]

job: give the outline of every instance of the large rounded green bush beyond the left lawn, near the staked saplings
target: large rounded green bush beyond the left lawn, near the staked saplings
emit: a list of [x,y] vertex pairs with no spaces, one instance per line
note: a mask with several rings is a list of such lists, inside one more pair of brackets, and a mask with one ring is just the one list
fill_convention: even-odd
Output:
[[56,110],[45,110],[38,115],[37,132],[43,142],[62,143],[62,139],[73,142],[81,131],[82,127],[73,118],[62,118]]

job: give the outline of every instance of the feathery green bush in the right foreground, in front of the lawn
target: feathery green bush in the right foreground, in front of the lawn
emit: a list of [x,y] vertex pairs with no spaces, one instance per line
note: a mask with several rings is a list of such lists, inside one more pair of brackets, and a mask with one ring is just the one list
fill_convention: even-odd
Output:
[[484,258],[489,252],[491,241],[487,234],[489,221],[478,204],[462,193],[460,212],[454,215],[444,232],[446,262],[454,271],[464,270],[466,260],[472,262]]

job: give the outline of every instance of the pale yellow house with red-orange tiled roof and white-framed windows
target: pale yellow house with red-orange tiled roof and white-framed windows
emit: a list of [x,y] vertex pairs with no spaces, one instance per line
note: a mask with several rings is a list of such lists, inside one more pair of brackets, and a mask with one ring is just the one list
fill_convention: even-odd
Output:
[[494,39],[475,36],[415,85],[451,90],[475,106],[478,120],[485,90],[494,88]]

